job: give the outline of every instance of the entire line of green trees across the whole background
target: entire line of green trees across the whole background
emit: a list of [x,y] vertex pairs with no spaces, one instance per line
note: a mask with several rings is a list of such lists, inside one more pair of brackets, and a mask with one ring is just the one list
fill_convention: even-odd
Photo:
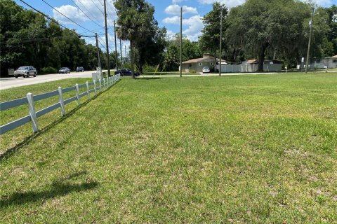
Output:
[[[154,19],[154,6],[145,0],[116,0],[117,36],[130,41],[133,71],[178,71],[180,34],[169,37],[165,27]],[[62,29],[44,15],[25,10],[12,0],[0,1],[0,62],[1,76],[8,68],[33,65],[38,70],[67,66],[95,69],[97,48],[86,43],[74,31]],[[221,13],[222,11],[222,13]],[[296,0],[247,0],[230,10],[213,3],[204,15],[204,29],[198,41],[183,36],[183,61],[210,53],[232,63],[258,59],[279,59],[286,66],[296,66],[306,56],[310,33],[312,5]],[[223,18],[220,18],[220,15]],[[220,20],[223,20],[223,50],[220,55]],[[337,7],[316,8],[313,20],[310,57],[337,55]],[[107,67],[105,52],[98,49],[103,68]],[[122,64],[118,52],[110,54],[110,67]]]

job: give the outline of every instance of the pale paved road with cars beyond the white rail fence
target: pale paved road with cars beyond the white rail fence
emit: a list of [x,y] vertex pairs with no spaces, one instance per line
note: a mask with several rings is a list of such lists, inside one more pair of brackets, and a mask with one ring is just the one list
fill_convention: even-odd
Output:
[[22,85],[46,83],[65,78],[91,78],[93,72],[95,71],[71,72],[69,74],[48,74],[41,76],[37,74],[37,77],[30,76],[29,78],[23,78],[22,76],[20,76],[19,78],[0,78],[0,90],[6,90],[12,87],[19,87]]

